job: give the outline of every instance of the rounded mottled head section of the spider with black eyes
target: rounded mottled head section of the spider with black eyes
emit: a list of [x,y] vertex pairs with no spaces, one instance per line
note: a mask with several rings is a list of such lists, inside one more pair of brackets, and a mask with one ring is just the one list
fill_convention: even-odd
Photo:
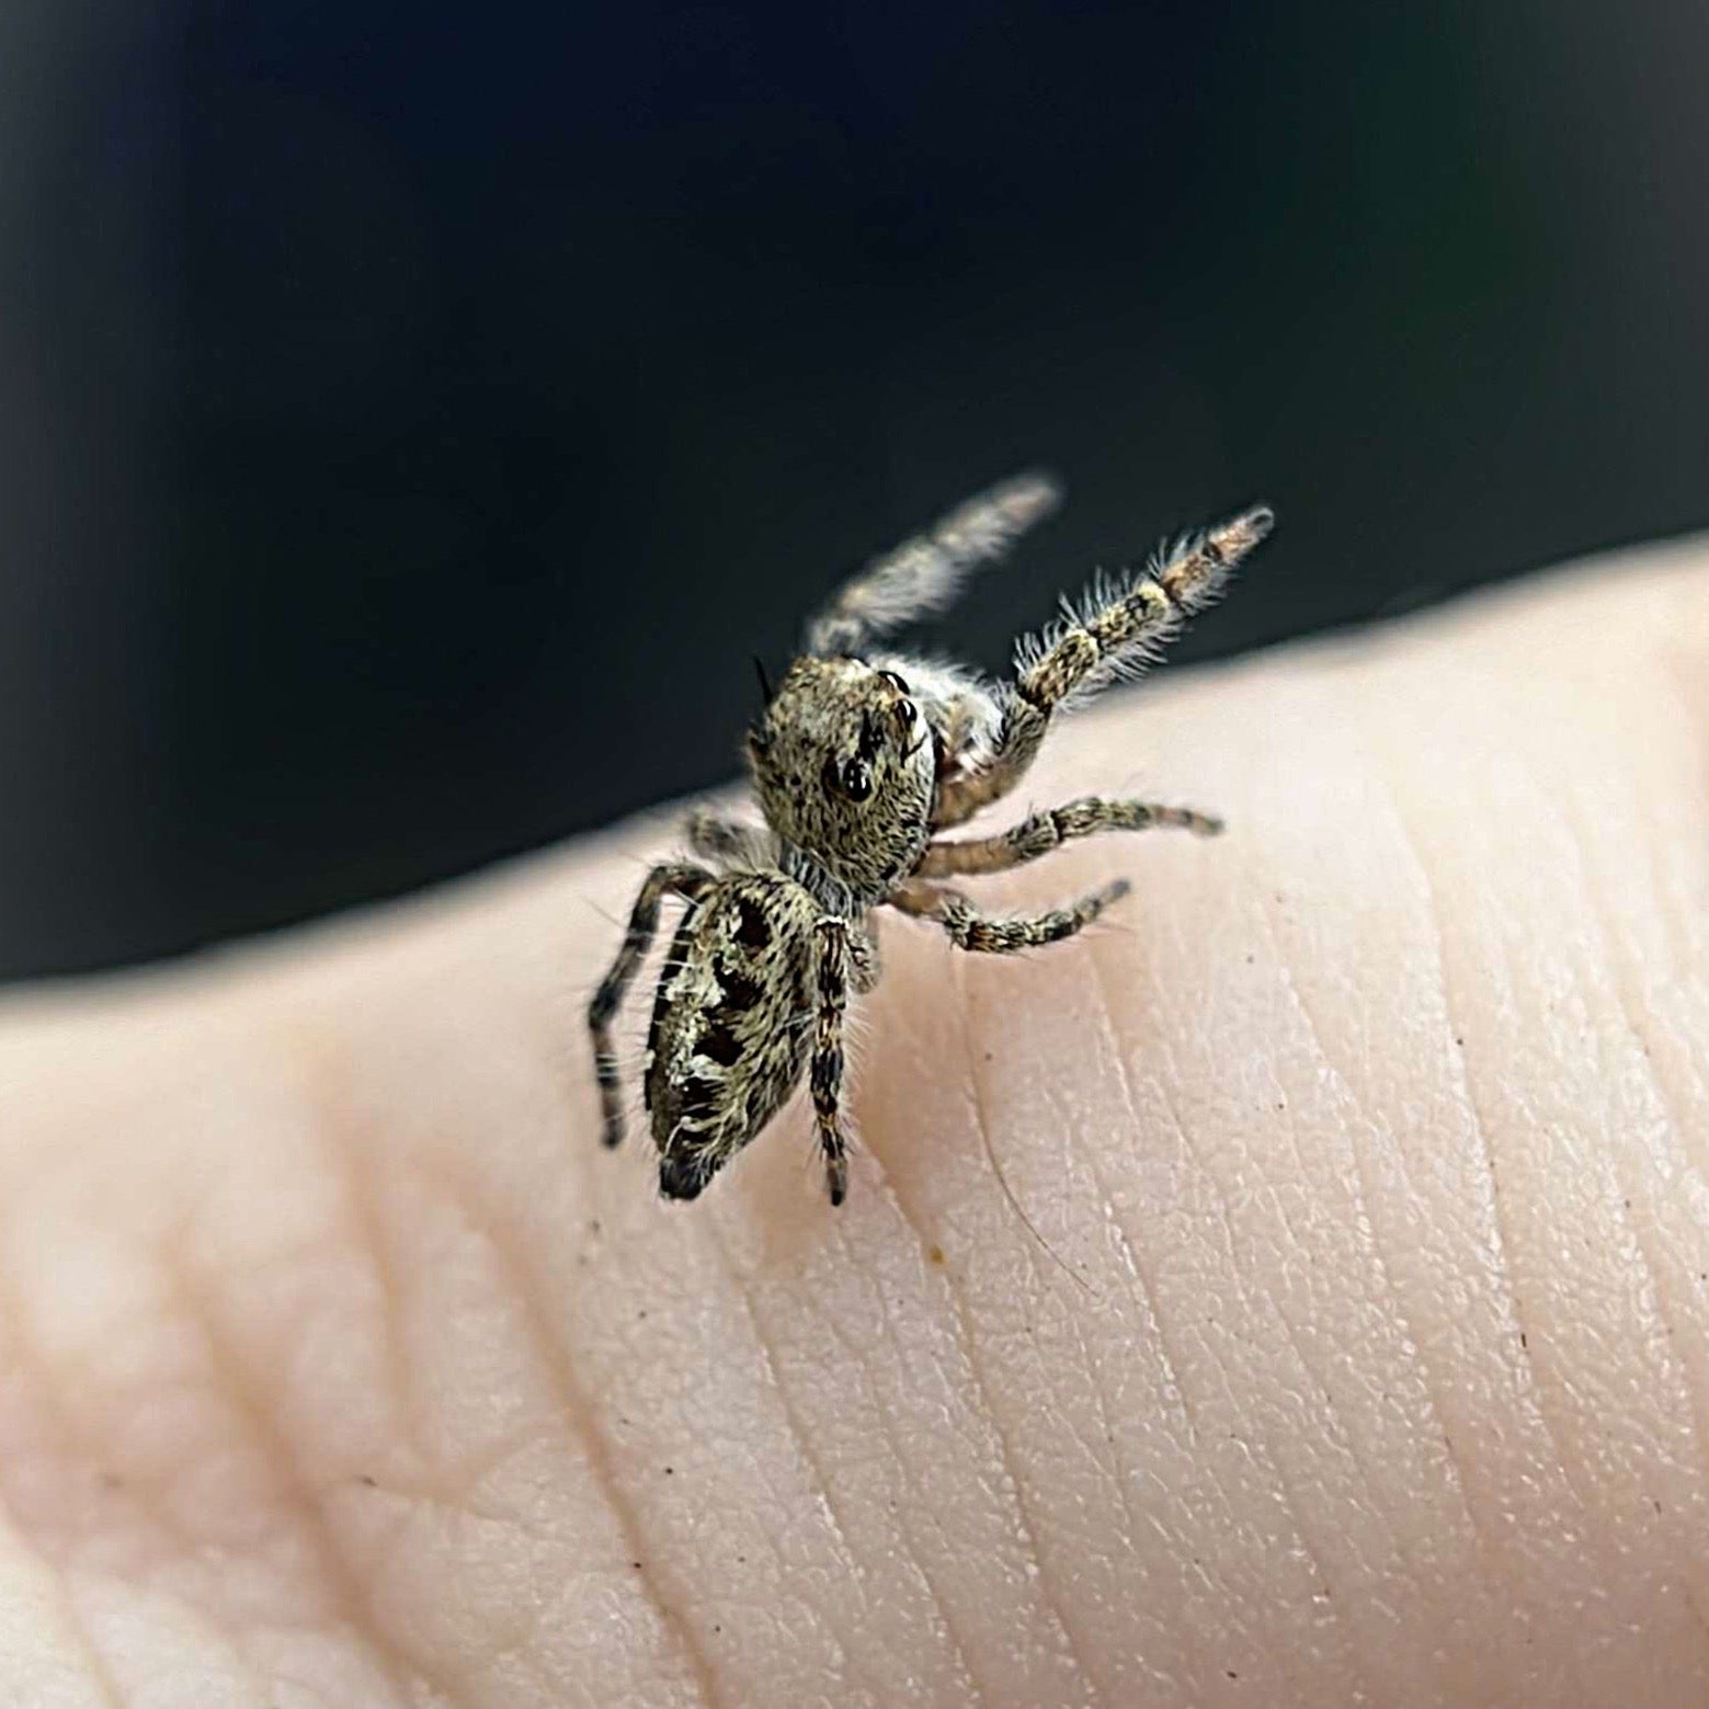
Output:
[[858,658],[800,658],[749,731],[767,824],[878,899],[931,836],[937,754],[907,682]]

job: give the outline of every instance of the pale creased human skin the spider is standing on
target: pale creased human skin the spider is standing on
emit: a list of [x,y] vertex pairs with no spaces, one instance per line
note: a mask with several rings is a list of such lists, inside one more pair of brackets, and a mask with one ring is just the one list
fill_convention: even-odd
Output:
[[660,822],[0,1005],[0,1702],[1702,1702],[1709,552],[1162,673],[993,822],[1092,790],[1229,832],[887,916],[839,1212],[800,1102],[598,1145]]

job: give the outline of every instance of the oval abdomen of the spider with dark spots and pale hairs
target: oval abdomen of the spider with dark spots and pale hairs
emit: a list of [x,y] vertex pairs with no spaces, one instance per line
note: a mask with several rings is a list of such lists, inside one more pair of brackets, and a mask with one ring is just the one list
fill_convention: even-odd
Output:
[[813,899],[781,873],[689,909],[653,1003],[643,1084],[660,1186],[694,1198],[778,1113],[812,1049]]

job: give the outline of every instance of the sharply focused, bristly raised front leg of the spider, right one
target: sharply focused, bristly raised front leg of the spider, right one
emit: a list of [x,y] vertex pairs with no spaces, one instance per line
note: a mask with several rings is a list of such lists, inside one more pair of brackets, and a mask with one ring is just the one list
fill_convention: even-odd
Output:
[[1008,795],[1037,755],[1054,713],[1143,670],[1157,648],[1210,603],[1271,525],[1263,508],[1219,523],[1131,583],[1095,584],[1042,639],[1024,641],[1017,649],[1020,672],[1005,690],[996,749],[986,766],[938,793],[935,824],[959,825]]

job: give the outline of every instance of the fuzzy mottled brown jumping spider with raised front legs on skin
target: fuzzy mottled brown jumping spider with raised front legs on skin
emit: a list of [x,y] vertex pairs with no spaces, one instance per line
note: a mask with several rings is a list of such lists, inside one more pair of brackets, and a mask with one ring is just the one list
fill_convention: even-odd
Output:
[[1099,579],[1042,639],[1015,651],[1015,680],[868,643],[950,603],[976,564],[1001,555],[1054,509],[1056,487],[1020,475],[971,499],[930,533],[866,566],[807,625],[807,653],[747,735],[764,825],[690,813],[690,849],[641,887],[624,947],[588,1010],[605,1143],[624,1136],[610,1024],[658,930],[660,902],[687,913],[660,978],[648,1032],[646,1107],[667,1198],[696,1198],[778,1113],[808,1068],[831,1203],[848,1189],[837,1102],[849,988],[878,981],[872,909],[940,925],[964,950],[1008,952],[1072,937],[1125,896],[1125,880],[1066,907],[990,919],[938,884],[1037,860],[1097,831],[1181,825],[1207,813],[1095,796],[1032,813],[998,836],[938,841],[1008,795],[1051,714],[1138,672],[1270,533],[1251,509],[1179,542],[1121,581]]

